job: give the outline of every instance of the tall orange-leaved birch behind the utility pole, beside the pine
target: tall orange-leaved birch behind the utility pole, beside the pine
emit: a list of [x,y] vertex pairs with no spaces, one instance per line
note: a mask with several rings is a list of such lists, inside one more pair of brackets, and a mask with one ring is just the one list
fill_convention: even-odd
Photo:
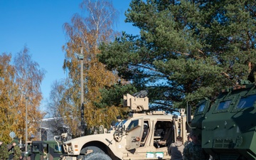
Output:
[[[105,69],[105,65],[97,59],[100,53],[98,46],[101,42],[113,40],[117,33],[113,30],[113,24],[117,19],[117,10],[112,6],[111,1],[82,1],[80,4],[82,14],[75,14],[70,23],[64,24],[68,42],[63,46],[65,50],[65,61],[63,68],[68,70],[71,80],[68,90],[65,92],[63,101],[63,116],[67,122],[74,125],[74,120],[81,120],[80,105],[80,68],[82,67],[84,87],[84,118],[87,127],[99,124],[110,124],[108,112],[95,106],[102,98],[100,89],[113,85],[117,82],[117,75]],[[78,55],[83,58],[83,66],[80,65]],[[104,110],[112,110],[111,114],[117,114],[115,107]],[[112,117],[111,117],[112,118]],[[106,127],[106,126],[105,126]],[[78,131],[73,130],[75,135]]]

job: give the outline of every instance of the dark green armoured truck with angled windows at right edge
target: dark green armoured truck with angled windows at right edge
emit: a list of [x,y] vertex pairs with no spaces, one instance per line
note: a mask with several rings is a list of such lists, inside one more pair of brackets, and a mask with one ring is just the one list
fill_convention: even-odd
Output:
[[213,105],[202,100],[191,121],[206,153],[215,160],[256,159],[256,87],[248,81],[222,90]]

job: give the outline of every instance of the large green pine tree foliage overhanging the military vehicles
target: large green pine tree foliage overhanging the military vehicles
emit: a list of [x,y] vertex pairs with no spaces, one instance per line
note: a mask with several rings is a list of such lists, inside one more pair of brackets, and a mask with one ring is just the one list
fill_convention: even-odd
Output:
[[[256,2],[132,0],[123,33],[102,43],[100,62],[149,90],[154,107],[185,107],[186,101],[218,95],[239,80],[255,80]],[[154,104],[154,105],[153,105]]]

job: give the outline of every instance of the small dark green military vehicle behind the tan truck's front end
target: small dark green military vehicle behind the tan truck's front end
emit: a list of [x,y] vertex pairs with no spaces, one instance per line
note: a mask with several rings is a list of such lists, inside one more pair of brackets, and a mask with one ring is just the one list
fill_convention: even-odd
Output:
[[62,144],[58,141],[28,142],[28,153],[23,159],[58,160],[62,155]]

